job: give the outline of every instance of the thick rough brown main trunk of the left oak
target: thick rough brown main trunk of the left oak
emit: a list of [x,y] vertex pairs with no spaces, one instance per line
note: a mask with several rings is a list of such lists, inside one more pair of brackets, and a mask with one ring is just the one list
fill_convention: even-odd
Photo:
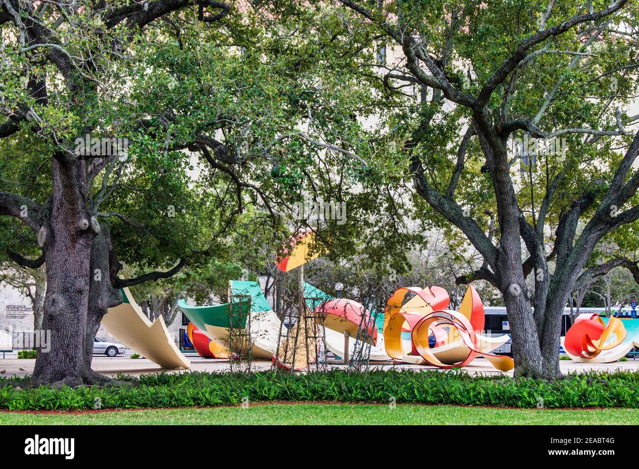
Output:
[[85,164],[64,157],[52,158],[50,220],[38,233],[47,265],[42,328],[50,331],[51,343],[48,353],[38,353],[33,383],[77,386],[83,383],[91,245],[98,227],[87,208]]

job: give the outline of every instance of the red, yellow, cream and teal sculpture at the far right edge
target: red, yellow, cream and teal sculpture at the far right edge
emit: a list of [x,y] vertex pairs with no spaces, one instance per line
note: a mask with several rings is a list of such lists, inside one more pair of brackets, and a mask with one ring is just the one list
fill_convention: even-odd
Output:
[[577,316],[561,339],[566,354],[580,363],[611,363],[639,347],[639,319]]

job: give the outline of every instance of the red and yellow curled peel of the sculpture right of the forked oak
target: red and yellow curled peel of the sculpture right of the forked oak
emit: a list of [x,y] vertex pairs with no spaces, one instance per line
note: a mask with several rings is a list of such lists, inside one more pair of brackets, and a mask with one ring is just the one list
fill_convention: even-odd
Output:
[[575,357],[595,358],[602,351],[618,346],[626,334],[620,319],[610,318],[606,326],[599,314],[584,313],[577,316],[573,327],[566,332],[564,348]]

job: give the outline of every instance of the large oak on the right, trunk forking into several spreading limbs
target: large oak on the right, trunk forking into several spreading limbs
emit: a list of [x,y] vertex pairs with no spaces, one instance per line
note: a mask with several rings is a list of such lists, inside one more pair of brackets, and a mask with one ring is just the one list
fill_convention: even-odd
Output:
[[[517,376],[560,375],[560,319],[575,282],[604,237],[639,218],[638,116],[627,112],[637,90],[636,6],[341,4],[344,24],[396,52],[360,66],[378,73],[388,95],[406,95],[387,132],[425,202],[416,203],[481,255],[458,281],[488,281],[504,296]],[[406,93],[412,87],[419,102]],[[511,151],[527,139],[565,139],[566,151]],[[520,171],[521,157],[536,162]]]

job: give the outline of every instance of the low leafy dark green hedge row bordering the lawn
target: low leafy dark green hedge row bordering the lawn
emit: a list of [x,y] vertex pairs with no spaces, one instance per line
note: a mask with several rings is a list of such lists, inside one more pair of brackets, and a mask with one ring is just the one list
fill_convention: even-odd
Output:
[[[132,379],[132,378],[129,378]],[[564,380],[470,376],[462,371],[149,374],[131,385],[0,388],[0,408],[78,410],[217,406],[259,401],[463,404],[534,408],[639,407],[639,373],[584,373]]]

